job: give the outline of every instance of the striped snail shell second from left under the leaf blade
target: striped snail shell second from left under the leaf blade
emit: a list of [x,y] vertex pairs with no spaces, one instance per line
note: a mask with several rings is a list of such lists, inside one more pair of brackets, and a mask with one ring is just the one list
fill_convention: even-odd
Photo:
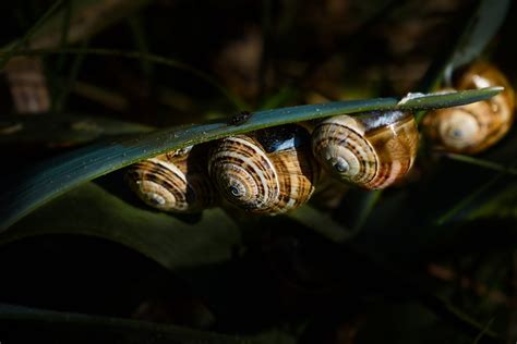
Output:
[[309,132],[293,124],[220,139],[212,149],[208,172],[228,201],[267,214],[308,201],[320,175]]

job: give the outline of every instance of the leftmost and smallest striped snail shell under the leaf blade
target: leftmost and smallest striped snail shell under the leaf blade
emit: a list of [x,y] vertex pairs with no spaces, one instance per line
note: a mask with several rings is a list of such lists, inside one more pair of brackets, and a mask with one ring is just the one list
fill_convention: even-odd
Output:
[[201,211],[216,202],[204,151],[204,147],[190,146],[140,161],[128,168],[125,180],[153,208],[169,212]]

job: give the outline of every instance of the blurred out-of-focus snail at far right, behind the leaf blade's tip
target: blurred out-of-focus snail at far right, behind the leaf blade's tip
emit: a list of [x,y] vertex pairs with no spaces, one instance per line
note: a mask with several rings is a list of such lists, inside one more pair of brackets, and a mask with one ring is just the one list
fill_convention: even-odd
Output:
[[515,94],[506,77],[493,65],[478,62],[455,84],[457,89],[503,86],[493,98],[429,112],[423,132],[448,151],[477,153],[496,144],[514,121]]

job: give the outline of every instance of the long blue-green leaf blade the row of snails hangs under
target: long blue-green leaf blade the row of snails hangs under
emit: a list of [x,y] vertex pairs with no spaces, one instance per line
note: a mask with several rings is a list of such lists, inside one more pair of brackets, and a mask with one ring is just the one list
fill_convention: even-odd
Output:
[[93,145],[35,165],[19,184],[9,185],[0,197],[0,230],[5,230],[34,209],[87,181],[169,150],[233,134],[337,114],[464,105],[488,99],[500,90],[500,87],[492,87],[446,95],[422,95],[401,105],[396,98],[377,98],[281,108],[255,112],[241,125],[200,124]]

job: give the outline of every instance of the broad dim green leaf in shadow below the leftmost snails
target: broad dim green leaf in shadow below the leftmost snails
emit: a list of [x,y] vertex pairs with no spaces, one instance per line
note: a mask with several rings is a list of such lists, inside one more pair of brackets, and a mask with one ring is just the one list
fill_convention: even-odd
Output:
[[127,245],[168,269],[223,262],[240,245],[239,229],[219,208],[175,217],[142,208],[139,199],[125,196],[130,202],[86,183],[16,223],[0,243],[43,234],[93,235]]

